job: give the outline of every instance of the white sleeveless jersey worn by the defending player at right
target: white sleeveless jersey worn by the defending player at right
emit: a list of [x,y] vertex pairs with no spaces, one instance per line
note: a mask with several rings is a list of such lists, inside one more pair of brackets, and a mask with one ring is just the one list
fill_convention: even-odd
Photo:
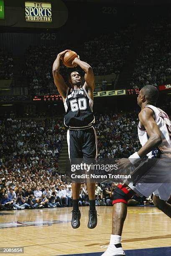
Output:
[[[171,158],[171,120],[168,115],[153,105],[148,105],[145,108],[151,108],[155,114],[155,121],[158,128],[161,131],[162,143],[154,148],[150,153],[147,154],[148,158],[159,158],[162,156],[166,158]],[[145,130],[141,128],[141,124],[138,124],[138,137],[142,146],[148,141],[148,134]]]

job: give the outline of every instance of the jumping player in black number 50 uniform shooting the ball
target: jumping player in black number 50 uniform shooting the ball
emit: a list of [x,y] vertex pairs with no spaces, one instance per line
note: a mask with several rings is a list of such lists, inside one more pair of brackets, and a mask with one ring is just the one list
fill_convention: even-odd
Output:
[[[71,72],[69,82],[71,90],[64,82],[61,76],[60,61],[70,50],[62,51],[58,54],[53,64],[54,83],[62,95],[66,114],[64,124],[68,127],[67,143],[69,159],[95,159],[97,156],[97,136],[94,127],[94,115],[92,113],[93,91],[94,91],[94,74],[92,67],[79,58],[72,61],[72,67],[77,65],[84,72],[85,82],[81,86],[82,80],[78,72]],[[73,210],[72,210],[72,228],[79,228],[81,213],[79,211],[79,191],[81,184],[72,182]],[[97,225],[97,212],[95,209],[95,183],[87,182],[89,195],[89,221],[88,228],[95,228]]]

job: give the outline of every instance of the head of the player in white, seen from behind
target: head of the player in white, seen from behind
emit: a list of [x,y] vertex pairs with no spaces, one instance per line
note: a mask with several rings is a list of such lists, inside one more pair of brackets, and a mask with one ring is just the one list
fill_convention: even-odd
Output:
[[145,96],[145,100],[152,105],[155,105],[158,99],[158,90],[153,85],[145,85],[141,89],[141,94]]

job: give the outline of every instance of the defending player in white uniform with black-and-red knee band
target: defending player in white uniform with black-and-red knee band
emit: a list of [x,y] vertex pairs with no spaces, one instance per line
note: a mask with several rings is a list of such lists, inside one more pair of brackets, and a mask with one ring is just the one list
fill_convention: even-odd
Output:
[[[103,256],[125,255],[120,241],[127,202],[135,193],[146,197],[153,194],[153,203],[171,218],[171,205],[167,202],[171,195],[171,120],[163,110],[156,108],[157,99],[158,90],[153,85],[146,85],[138,95],[141,108],[138,136],[142,148],[128,159],[120,159],[118,164],[123,169],[138,163],[145,156],[148,159],[145,161],[147,163],[135,169],[135,182],[127,180],[114,190],[112,235]],[[150,166],[154,161],[155,165]],[[163,165],[165,162],[168,163],[166,166]]]

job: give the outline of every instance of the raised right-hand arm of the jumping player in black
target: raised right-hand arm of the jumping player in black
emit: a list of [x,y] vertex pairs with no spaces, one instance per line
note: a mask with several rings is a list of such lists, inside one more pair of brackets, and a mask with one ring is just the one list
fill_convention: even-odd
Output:
[[93,92],[94,92],[94,73],[93,73],[93,69],[92,67],[84,62],[81,61],[79,58],[75,58],[74,61],[72,62],[73,66],[74,64],[79,65],[79,67],[81,67],[84,72],[85,72],[85,86],[87,87],[89,96],[91,97],[91,99],[93,100]]

